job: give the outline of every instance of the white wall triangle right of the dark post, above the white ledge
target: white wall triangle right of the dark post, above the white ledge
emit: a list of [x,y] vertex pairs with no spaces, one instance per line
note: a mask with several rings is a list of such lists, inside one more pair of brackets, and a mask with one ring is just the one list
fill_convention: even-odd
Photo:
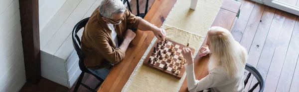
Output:
[[48,24],[66,0],[38,0],[39,31]]

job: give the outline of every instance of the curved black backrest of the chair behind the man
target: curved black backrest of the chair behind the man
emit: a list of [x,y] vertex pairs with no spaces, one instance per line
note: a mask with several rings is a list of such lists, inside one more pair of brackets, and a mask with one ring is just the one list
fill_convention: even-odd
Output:
[[79,21],[79,22],[75,25],[75,27],[74,27],[74,29],[73,29],[73,31],[72,31],[73,46],[74,46],[74,48],[75,48],[75,50],[76,50],[76,52],[77,52],[77,54],[78,54],[78,56],[79,56],[79,67],[80,67],[81,71],[87,70],[87,68],[86,68],[85,65],[84,65],[84,57],[85,57],[85,55],[84,55],[83,51],[82,51],[81,48],[80,48],[80,46],[81,46],[81,41],[80,41],[80,38],[79,38],[79,36],[77,35],[77,33],[78,33],[78,31],[79,31],[81,28],[83,28],[83,27],[86,25],[88,19],[89,19],[89,17],[88,17],[88,18],[85,18],[85,19],[83,19],[83,20],[81,20],[81,21]]

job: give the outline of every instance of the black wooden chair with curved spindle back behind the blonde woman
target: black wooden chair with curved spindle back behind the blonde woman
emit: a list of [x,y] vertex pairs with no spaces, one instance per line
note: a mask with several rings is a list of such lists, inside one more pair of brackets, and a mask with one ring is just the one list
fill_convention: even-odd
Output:
[[263,92],[264,88],[265,88],[265,80],[264,80],[262,74],[259,72],[259,70],[248,63],[246,63],[245,69],[247,71],[249,71],[249,73],[244,81],[245,86],[246,86],[251,74],[253,74],[253,76],[258,80],[258,83],[256,83],[248,92],[253,92],[253,90],[255,90],[258,87],[258,85],[260,85],[259,92]]

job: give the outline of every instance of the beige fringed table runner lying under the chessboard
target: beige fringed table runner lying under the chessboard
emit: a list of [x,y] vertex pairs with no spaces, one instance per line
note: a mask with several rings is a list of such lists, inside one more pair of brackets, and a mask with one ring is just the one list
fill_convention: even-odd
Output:
[[[195,49],[195,54],[202,44],[223,0],[198,0],[196,10],[190,9],[190,0],[177,0],[161,28],[166,30],[166,38]],[[123,92],[178,92],[185,79],[185,73],[179,80],[160,71],[143,65],[149,45],[141,58]]]

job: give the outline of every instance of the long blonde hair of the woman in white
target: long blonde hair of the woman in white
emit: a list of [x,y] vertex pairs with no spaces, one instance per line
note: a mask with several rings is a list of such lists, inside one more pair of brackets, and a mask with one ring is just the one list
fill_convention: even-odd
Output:
[[240,75],[238,71],[245,68],[247,51],[235,41],[227,29],[211,27],[207,34],[207,44],[211,49],[209,71],[215,66],[222,66],[226,69],[229,77]]

